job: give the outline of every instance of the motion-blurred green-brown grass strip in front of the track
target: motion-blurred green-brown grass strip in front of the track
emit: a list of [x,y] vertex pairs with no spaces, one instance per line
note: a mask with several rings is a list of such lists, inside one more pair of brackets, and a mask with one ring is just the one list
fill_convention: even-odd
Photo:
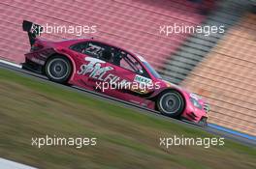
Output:
[[[0,70],[0,156],[46,169],[256,168],[255,148],[159,146],[159,137],[216,137],[108,101]],[[97,137],[94,147],[31,146],[32,137]]]

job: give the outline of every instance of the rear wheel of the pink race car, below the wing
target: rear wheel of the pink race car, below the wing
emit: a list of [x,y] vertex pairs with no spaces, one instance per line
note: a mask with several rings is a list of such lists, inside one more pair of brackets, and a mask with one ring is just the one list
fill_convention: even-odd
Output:
[[66,84],[72,73],[72,65],[64,56],[53,56],[48,59],[45,71],[49,80]]

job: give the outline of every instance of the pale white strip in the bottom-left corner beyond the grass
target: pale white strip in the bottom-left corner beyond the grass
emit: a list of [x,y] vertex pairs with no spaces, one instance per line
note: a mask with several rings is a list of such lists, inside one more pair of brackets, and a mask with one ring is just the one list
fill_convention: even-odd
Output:
[[4,159],[0,157],[0,167],[1,169],[37,169],[34,167],[30,167],[28,165],[20,164],[8,159]]

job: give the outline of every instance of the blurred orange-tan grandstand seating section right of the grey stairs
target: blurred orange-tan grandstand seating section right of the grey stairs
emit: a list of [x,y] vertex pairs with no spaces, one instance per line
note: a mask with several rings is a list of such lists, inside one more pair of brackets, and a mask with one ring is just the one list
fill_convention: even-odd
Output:
[[211,123],[254,135],[255,21],[255,14],[246,14],[182,82],[188,89],[208,99],[211,105]]

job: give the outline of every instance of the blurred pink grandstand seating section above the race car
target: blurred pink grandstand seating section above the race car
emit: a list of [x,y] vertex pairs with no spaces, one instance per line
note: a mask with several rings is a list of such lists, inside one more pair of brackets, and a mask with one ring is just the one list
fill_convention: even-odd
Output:
[[[159,68],[188,37],[160,35],[160,26],[199,25],[206,18],[198,13],[199,8],[199,3],[187,0],[4,0],[0,2],[0,56],[16,63],[23,61],[23,53],[29,49],[27,36],[21,30],[22,20],[26,19],[41,25],[96,25],[97,33],[84,36],[140,52]],[[70,34],[44,37],[78,38]]]

